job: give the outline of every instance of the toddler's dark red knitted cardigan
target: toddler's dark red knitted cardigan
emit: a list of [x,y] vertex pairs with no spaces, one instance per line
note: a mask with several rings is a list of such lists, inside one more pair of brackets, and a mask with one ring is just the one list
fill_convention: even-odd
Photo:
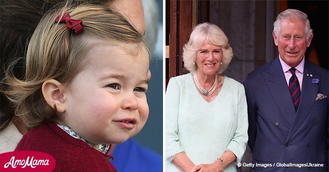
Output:
[[[28,131],[15,151],[39,151],[52,155],[56,160],[54,171],[117,171],[99,152],[82,140],[65,133],[54,122]],[[108,150],[109,151],[109,150]]]

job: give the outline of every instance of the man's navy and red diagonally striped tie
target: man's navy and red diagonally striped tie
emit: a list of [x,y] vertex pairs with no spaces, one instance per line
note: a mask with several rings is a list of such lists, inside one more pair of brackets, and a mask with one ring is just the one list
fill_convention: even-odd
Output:
[[292,95],[293,103],[295,106],[295,110],[297,111],[299,102],[301,100],[301,88],[299,85],[298,78],[296,76],[296,69],[291,68],[289,69],[290,72],[292,72],[292,77],[289,80],[289,91]]

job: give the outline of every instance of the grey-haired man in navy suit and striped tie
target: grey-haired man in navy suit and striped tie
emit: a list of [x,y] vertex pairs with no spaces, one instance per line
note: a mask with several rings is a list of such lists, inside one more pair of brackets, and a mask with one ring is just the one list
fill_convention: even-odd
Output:
[[305,59],[310,22],[288,9],[273,25],[279,55],[243,82],[252,171],[328,171],[328,70]]

